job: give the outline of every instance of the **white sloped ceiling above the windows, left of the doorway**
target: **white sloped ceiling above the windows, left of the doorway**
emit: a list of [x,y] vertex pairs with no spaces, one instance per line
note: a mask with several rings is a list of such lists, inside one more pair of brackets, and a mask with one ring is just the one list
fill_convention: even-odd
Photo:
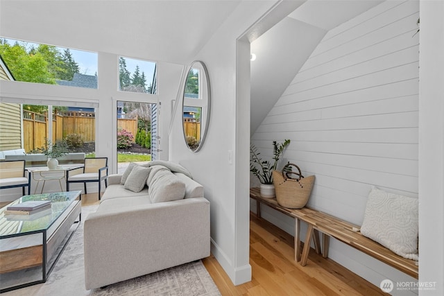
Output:
[[240,0],[0,1],[0,36],[187,64]]

